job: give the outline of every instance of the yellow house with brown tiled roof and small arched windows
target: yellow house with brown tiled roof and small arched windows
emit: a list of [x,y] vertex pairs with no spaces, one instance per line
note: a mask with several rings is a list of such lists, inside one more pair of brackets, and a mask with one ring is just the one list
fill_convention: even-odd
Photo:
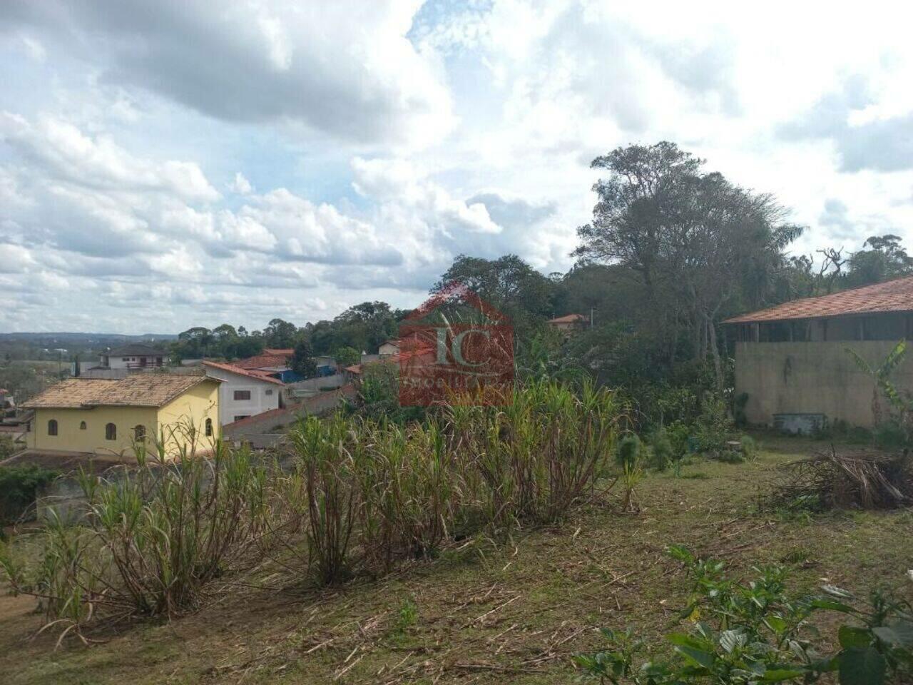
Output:
[[205,375],[131,374],[69,378],[23,404],[35,418],[26,446],[37,452],[130,456],[137,443],[209,448],[220,435],[219,383]]

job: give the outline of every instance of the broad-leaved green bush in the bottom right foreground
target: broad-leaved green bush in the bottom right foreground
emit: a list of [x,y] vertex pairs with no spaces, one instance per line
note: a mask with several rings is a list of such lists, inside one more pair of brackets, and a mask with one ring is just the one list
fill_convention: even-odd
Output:
[[[750,685],[810,683],[835,671],[842,685],[875,685],[887,678],[908,682],[913,675],[913,611],[905,600],[875,591],[866,602],[827,585],[824,595],[792,597],[780,566],[755,569],[758,576],[740,584],[726,577],[722,562],[698,559],[679,546],[669,553],[694,581],[679,614],[691,620],[690,628],[666,638],[674,656],[638,664],[645,641],[632,628],[603,629],[607,648],[574,659],[585,677],[616,685]],[[820,611],[852,619],[838,630],[840,649],[831,655],[813,648],[819,631],[810,619]]]

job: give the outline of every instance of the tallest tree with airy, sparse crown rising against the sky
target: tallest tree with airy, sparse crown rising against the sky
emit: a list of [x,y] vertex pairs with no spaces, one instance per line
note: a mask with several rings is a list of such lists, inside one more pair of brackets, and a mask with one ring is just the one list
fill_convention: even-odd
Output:
[[802,232],[771,195],[740,188],[672,142],[630,145],[593,160],[609,175],[593,186],[593,222],[578,229],[582,260],[620,264],[644,280],[649,315],[677,350],[678,327],[692,353],[710,358],[719,387],[717,324],[727,307],[760,305],[784,248]]

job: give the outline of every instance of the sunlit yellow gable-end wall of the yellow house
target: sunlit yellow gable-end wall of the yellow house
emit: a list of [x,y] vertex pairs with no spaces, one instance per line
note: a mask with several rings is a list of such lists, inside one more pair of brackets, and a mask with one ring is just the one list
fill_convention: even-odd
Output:
[[[187,446],[186,428],[191,426],[199,440],[198,449],[209,448],[212,441],[221,437],[219,385],[207,378],[158,410],[160,435],[164,435],[164,450],[168,455],[175,456],[182,444]],[[210,437],[205,435],[207,418],[213,422],[213,435]]]

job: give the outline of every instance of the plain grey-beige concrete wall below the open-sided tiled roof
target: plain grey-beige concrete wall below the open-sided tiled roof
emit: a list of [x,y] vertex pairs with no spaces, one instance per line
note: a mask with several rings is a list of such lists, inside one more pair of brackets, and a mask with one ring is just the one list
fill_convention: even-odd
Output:
[[[749,422],[773,425],[774,414],[824,414],[829,422],[872,427],[872,379],[846,352],[855,350],[873,366],[897,342],[737,342],[736,395],[748,394]],[[913,390],[913,362],[897,368],[895,384]],[[887,409],[887,399],[881,406]]]

